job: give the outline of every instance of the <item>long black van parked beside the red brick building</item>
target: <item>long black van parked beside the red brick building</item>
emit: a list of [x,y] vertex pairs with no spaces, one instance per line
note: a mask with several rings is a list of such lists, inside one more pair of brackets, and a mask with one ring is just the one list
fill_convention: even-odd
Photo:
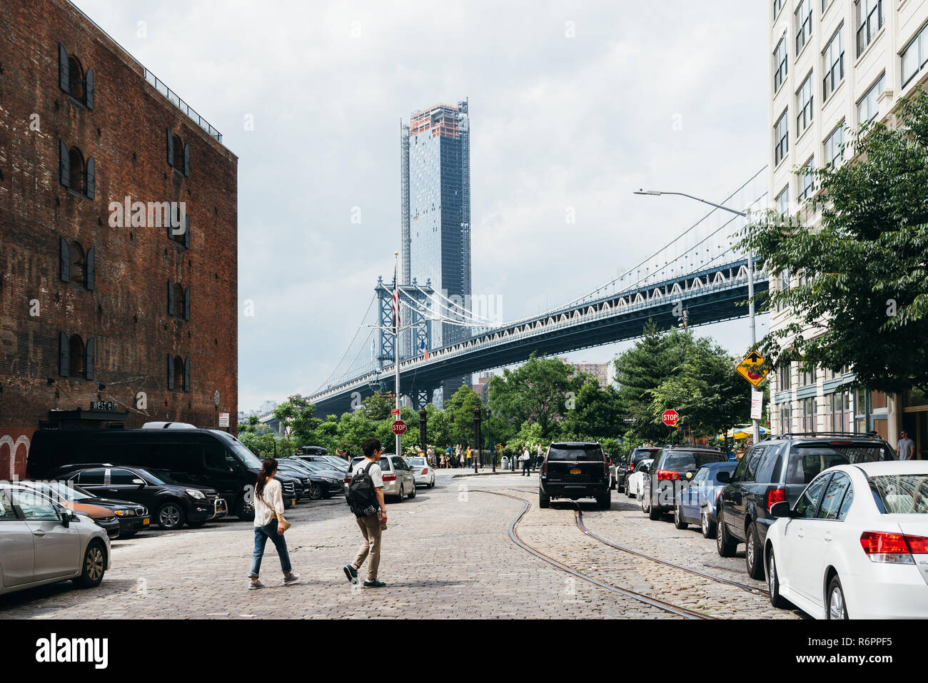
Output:
[[[166,473],[179,483],[214,488],[240,520],[254,519],[251,495],[261,458],[227,432],[178,423],[137,430],[39,430],[32,437],[26,471],[50,479],[63,467],[111,463]],[[165,425],[165,426],[161,426]],[[284,503],[295,503],[294,483],[277,475]]]

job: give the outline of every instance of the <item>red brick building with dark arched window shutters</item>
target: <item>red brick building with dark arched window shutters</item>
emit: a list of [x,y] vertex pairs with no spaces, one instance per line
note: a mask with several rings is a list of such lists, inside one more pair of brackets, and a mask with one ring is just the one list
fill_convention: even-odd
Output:
[[0,479],[40,426],[238,414],[237,157],[75,6],[3,11]]

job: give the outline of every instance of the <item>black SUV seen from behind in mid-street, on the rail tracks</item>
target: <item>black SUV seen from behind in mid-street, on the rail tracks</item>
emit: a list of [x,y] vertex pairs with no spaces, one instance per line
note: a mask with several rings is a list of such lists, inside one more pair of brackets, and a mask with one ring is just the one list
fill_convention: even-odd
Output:
[[568,442],[551,444],[538,479],[538,507],[548,508],[551,498],[596,498],[599,509],[609,509],[609,466],[602,446]]

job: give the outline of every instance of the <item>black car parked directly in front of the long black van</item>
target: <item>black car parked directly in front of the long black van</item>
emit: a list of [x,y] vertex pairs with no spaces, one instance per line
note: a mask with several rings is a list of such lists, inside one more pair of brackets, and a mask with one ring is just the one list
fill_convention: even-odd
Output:
[[213,489],[166,483],[148,470],[130,467],[92,467],[63,472],[62,479],[77,483],[91,496],[131,500],[154,511],[162,529],[199,527],[215,511]]

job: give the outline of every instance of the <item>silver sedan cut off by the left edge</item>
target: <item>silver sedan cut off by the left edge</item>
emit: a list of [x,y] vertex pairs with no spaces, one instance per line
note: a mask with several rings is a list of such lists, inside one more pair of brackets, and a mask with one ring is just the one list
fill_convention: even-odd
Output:
[[0,595],[71,580],[99,586],[110,536],[90,517],[18,483],[0,483]]

